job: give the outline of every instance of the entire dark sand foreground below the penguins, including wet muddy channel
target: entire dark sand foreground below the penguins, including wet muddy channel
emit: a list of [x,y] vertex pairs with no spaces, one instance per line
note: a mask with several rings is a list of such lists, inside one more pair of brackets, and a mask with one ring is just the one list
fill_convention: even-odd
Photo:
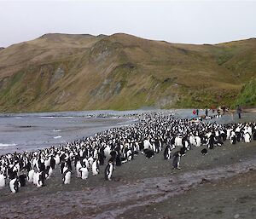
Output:
[[172,170],[163,153],[117,167],[113,181],[54,176],[12,194],[0,190],[0,218],[256,218],[256,142],[215,147],[207,156],[194,147]]

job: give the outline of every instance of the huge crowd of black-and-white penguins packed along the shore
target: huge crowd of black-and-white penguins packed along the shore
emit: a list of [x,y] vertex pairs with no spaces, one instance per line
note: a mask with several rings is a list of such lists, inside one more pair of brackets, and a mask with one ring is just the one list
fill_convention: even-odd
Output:
[[[152,158],[163,149],[164,159],[172,158],[173,168],[179,169],[181,156],[192,147],[203,146],[201,154],[206,155],[207,149],[221,147],[224,141],[234,145],[237,141],[256,140],[255,122],[204,123],[190,118],[173,118],[163,112],[142,113],[137,117],[137,124],[106,130],[58,147],[0,156],[0,188],[9,183],[10,191],[17,193],[26,183],[44,187],[45,181],[58,170],[63,184],[71,183],[73,176],[88,180],[98,175],[99,165],[107,161],[104,176],[110,181],[114,165],[130,162],[138,153]],[[171,155],[175,148],[179,150]]]

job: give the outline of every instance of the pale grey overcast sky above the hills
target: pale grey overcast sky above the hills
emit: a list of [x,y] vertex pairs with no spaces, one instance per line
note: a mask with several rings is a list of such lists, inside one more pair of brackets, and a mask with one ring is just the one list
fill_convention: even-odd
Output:
[[0,47],[49,32],[228,42],[256,37],[256,1],[0,0]]

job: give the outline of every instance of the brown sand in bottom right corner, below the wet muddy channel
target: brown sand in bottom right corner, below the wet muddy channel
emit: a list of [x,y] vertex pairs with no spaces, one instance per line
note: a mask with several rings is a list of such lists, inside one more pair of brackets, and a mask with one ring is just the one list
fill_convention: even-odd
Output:
[[256,170],[201,182],[181,195],[152,203],[119,218],[256,218]]

